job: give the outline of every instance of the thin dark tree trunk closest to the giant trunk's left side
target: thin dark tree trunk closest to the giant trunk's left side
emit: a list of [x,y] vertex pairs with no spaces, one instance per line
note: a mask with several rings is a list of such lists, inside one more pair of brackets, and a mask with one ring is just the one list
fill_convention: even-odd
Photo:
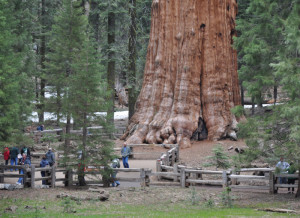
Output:
[[134,114],[134,106],[136,102],[135,86],[136,86],[136,0],[129,0],[129,16],[131,19],[129,30],[129,69],[128,69],[128,109],[129,119]]

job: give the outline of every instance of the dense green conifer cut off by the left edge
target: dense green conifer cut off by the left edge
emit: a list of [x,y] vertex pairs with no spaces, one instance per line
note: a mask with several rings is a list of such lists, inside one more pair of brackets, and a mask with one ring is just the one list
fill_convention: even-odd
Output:
[[31,113],[34,53],[26,4],[0,2],[0,142],[17,142]]

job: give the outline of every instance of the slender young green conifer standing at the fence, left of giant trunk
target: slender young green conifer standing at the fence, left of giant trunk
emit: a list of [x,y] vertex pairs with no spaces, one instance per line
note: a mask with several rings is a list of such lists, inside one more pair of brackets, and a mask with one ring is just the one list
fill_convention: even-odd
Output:
[[[88,30],[88,17],[84,15],[80,1],[65,0],[55,18],[49,54],[48,80],[54,85],[56,98],[61,103],[61,112],[67,118],[65,156],[70,152],[77,155],[79,185],[85,185],[84,167],[88,164],[107,168],[111,159],[112,144],[101,134],[110,133],[107,117],[97,116],[96,112],[107,109],[106,88],[103,67],[99,65],[98,51],[94,49]],[[59,116],[59,114],[57,114]],[[76,149],[69,147],[71,118],[82,129]],[[103,128],[88,129],[101,125]],[[102,132],[100,132],[100,130]],[[69,161],[68,158],[65,161]],[[105,169],[106,169],[105,168]],[[103,176],[106,171],[99,167]]]

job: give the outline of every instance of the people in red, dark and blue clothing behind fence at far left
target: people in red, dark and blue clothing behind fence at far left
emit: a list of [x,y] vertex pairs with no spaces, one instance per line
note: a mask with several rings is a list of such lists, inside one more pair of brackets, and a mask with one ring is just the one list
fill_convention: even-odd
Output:
[[[5,147],[3,151],[3,156],[5,160],[5,165],[8,165],[8,162],[10,160],[11,166],[13,165],[31,165],[31,155],[30,155],[30,149],[26,146],[24,146],[21,149],[21,152],[18,147],[12,147],[8,148]],[[46,166],[53,166],[55,164],[55,154],[53,153],[52,149],[49,148],[46,154],[43,156],[40,167],[46,167]],[[15,169],[17,171],[17,169]],[[10,171],[13,171],[11,169]],[[24,171],[21,169],[19,171],[20,174],[24,174]],[[42,177],[45,177],[45,171],[41,172]],[[23,178],[20,177],[17,181],[18,185],[23,184]],[[42,181],[42,184],[45,185],[46,181]]]

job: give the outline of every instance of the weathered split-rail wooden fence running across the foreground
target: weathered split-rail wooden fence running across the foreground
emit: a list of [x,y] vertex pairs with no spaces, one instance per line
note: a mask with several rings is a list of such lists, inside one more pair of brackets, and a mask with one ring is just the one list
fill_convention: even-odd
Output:
[[[128,145],[132,149],[143,145]],[[156,145],[158,146],[158,145]],[[164,145],[159,145],[164,146]],[[168,145],[170,146],[170,145]],[[112,169],[115,172],[138,173],[136,177],[117,177],[118,181],[139,182],[141,187],[149,185],[165,185],[165,186],[181,186],[189,187],[191,185],[217,185],[222,187],[229,187],[231,189],[247,189],[247,190],[269,190],[270,193],[275,194],[279,188],[297,188],[297,184],[279,184],[279,178],[297,179],[298,174],[275,174],[274,168],[243,168],[238,170],[205,170],[201,168],[192,168],[184,165],[179,165],[179,147],[172,145],[171,148],[162,153],[156,162],[156,172],[144,168],[121,168]],[[24,174],[10,174],[5,173],[4,169],[23,169]],[[46,171],[46,177],[36,178],[35,173]],[[56,178],[57,172],[64,172],[65,178]],[[249,173],[260,172],[264,175],[251,175]],[[242,175],[246,173],[247,175]],[[35,182],[46,180],[50,187],[55,187],[56,182],[64,182],[66,186],[72,186],[78,183],[75,179],[77,172],[74,170],[56,169],[55,167],[39,168],[32,166],[5,166],[0,165],[0,183],[3,183],[4,178],[24,178],[25,187],[35,187]],[[100,175],[100,172],[94,170],[93,172],[85,172],[85,175]],[[152,180],[155,176],[158,181]],[[152,180],[152,181],[151,181]],[[299,182],[299,181],[298,181]],[[103,184],[99,181],[87,181],[88,184]],[[259,184],[261,183],[261,184]]]

